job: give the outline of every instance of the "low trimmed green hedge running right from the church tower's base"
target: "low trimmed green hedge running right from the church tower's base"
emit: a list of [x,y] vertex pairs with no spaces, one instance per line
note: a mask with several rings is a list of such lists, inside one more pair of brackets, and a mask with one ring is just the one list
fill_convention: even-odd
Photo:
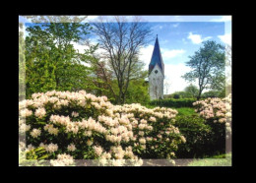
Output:
[[152,100],[150,102],[151,105],[159,105],[164,107],[193,107],[193,102],[196,101],[196,98],[167,98],[160,100]]

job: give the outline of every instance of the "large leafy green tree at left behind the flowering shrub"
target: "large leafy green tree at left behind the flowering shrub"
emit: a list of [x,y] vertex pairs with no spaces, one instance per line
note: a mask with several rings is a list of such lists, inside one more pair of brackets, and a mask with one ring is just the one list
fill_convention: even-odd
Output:
[[96,90],[94,71],[83,65],[84,57],[74,47],[91,30],[81,23],[86,17],[28,17],[33,24],[26,37],[27,96],[38,91]]

